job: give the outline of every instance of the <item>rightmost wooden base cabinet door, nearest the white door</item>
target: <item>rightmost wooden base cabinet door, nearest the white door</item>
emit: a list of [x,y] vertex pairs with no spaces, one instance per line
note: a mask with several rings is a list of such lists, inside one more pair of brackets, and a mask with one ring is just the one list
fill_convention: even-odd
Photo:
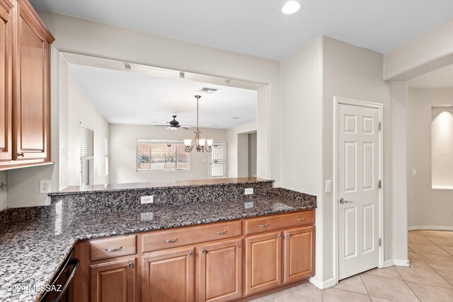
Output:
[[314,275],[314,226],[285,231],[284,258],[285,283]]

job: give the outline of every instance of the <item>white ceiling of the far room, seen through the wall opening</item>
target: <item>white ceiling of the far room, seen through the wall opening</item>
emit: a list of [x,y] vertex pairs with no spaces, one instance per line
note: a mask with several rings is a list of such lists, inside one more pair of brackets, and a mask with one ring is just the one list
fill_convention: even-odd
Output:
[[[195,127],[197,94],[200,127],[228,129],[256,121],[253,90],[76,64],[69,64],[69,76],[110,124],[166,124],[178,115],[180,125]],[[219,90],[198,92],[203,86]]]

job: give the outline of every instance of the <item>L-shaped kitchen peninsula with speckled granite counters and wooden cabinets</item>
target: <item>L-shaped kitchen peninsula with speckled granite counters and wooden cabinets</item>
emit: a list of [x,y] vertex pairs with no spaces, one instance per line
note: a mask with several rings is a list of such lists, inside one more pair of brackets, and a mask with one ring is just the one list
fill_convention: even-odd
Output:
[[[152,204],[141,204],[151,195]],[[49,284],[74,247],[75,301],[234,301],[314,274],[316,197],[273,188],[272,180],[95,186],[50,196],[49,206],[0,213],[1,284]],[[1,301],[40,296],[0,291]]]

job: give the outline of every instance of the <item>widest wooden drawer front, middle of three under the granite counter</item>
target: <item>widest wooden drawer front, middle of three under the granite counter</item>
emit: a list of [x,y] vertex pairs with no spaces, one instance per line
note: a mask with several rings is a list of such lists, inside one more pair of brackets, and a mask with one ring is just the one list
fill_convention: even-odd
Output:
[[149,233],[142,237],[143,252],[164,250],[183,245],[202,243],[242,235],[242,222],[195,226],[183,230]]

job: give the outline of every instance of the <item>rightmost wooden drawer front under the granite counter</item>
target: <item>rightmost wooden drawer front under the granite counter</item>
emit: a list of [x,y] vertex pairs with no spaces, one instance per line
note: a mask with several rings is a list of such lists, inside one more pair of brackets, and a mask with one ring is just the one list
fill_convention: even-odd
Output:
[[274,231],[293,226],[304,226],[314,223],[314,211],[301,211],[294,214],[259,217],[246,220],[246,235]]

